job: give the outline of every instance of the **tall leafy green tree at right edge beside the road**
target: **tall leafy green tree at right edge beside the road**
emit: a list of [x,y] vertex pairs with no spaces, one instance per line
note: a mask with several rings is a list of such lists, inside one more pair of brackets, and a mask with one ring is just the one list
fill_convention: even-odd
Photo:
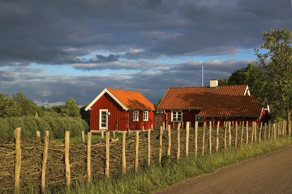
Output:
[[263,41],[260,49],[267,49],[267,53],[254,49],[262,72],[260,96],[278,110],[285,111],[287,134],[291,135],[292,31],[283,29],[263,32]]

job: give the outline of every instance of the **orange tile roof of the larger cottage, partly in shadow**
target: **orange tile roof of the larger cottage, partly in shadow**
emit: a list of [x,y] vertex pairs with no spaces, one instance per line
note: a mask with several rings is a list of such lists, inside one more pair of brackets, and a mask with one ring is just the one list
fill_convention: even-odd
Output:
[[159,110],[198,109],[200,117],[260,116],[260,99],[243,96],[247,85],[169,88]]

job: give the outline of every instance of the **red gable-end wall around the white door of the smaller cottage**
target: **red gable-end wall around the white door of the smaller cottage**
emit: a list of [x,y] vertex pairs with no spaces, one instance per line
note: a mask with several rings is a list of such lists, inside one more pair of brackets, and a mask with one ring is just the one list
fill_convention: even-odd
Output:
[[105,93],[91,107],[90,129],[99,130],[99,110],[108,109],[108,130],[115,130],[118,120],[118,130],[127,130],[127,111]]

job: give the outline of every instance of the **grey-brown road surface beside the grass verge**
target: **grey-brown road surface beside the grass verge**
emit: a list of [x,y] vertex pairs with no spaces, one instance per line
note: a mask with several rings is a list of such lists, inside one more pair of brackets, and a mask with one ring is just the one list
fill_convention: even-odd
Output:
[[154,194],[292,194],[292,146],[185,180]]

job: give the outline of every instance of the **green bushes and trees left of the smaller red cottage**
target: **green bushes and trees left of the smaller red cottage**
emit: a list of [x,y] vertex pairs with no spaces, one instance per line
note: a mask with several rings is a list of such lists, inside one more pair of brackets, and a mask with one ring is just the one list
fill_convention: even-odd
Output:
[[86,106],[79,108],[76,101],[69,97],[65,105],[38,106],[17,94],[0,94],[0,141],[12,140],[14,129],[21,128],[21,139],[36,138],[36,131],[50,130],[50,138],[64,138],[64,131],[70,136],[78,136],[81,131],[89,130],[89,112]]

